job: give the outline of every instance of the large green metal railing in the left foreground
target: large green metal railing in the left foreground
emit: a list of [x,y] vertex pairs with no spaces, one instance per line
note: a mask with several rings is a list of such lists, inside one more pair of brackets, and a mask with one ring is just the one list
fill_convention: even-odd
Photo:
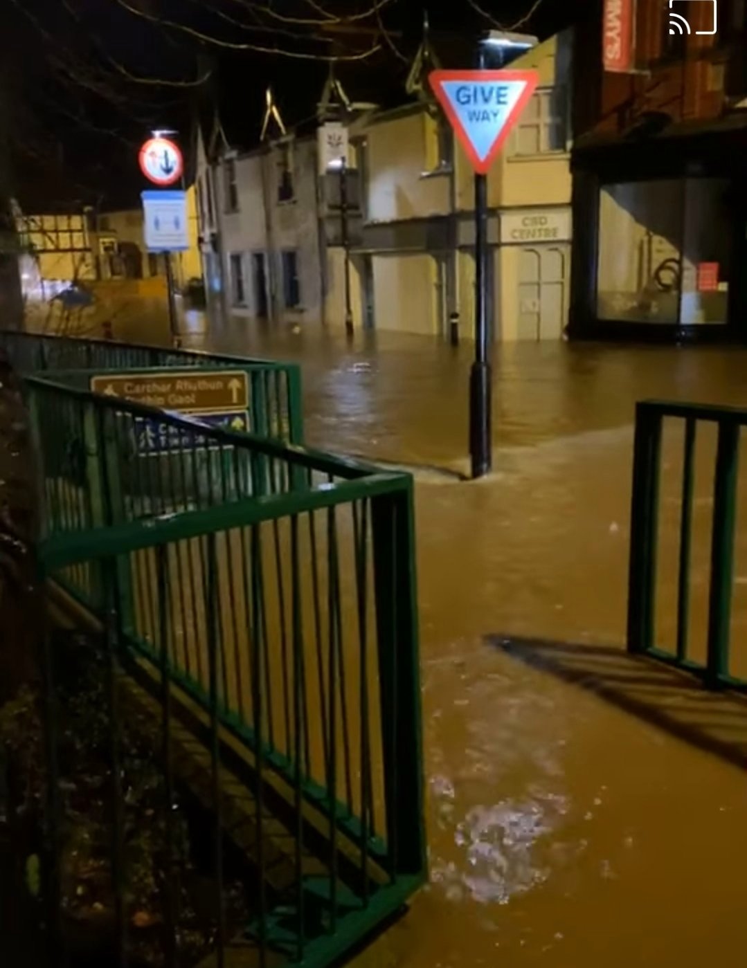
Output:
[[[150,671],[167,750],[192,704],[219,897],[224,841],[249,823],[253,915],[233,943],[328,964],[424,878],[411,478],[26,384],[45,573],[107,622],[112,661]],[[215,964],[231,943],[217,930]]]

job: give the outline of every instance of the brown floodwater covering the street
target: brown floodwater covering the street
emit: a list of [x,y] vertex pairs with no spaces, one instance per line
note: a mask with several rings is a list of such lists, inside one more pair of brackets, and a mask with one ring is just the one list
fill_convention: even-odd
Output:
[[[239,319],[208,338],[202,317],[187,321],[185,346],[301,362],[311,445],[422,469],[431,884],[360,960],[741,965],[747,706],[623,647],[635,402],[747,405],[747,350],[498,347],[494,473],[472,483],[429,470],[466,467],[470,344],[385,334],[348,345],[313,326]],[[163,318],[148,315],[114,335],[167,336]],[[707,505],[704,443],[696,502]],[[672,503],[668,522],[676,512]]]

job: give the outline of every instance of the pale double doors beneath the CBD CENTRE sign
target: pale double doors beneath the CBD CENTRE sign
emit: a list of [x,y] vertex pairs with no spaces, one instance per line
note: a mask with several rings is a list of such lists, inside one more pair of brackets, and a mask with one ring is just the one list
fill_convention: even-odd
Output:
[[537,246],[518,254],[519,340],[559,340],[568,311],[569,247]]

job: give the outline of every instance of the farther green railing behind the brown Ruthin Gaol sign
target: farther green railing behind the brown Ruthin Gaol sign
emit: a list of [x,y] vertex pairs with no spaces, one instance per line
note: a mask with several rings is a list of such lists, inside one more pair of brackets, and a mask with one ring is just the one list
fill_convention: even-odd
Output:
[[152,367],[244,370],[249,377],[251,426],[261,437],[303,442],[300,369],[295,363],[0,330],[4,350],[23,376],[59,371],[130,371]]

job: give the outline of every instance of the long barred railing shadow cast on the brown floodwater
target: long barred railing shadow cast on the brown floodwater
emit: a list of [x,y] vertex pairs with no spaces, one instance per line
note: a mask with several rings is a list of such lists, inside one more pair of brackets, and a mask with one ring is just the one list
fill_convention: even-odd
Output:
[[742,696],[708,691],[686,673],[620,649],[501,635],[486,641],[740,770],[747,764],[747,700]]

